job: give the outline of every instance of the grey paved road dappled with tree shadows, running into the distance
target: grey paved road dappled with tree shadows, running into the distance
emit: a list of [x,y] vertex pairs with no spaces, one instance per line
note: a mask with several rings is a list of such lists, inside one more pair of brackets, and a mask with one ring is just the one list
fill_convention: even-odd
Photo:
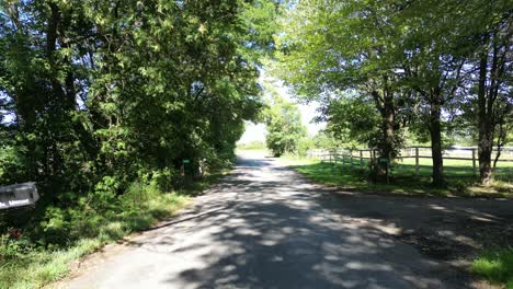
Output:
[[[398,241],[395,223],[363,213],[368,200],[322,190],[272,159],[247,154],[179,220],[66,287],[467,288],[465,277]],[[392,208],[386,199],[374,203],[376,215]]]

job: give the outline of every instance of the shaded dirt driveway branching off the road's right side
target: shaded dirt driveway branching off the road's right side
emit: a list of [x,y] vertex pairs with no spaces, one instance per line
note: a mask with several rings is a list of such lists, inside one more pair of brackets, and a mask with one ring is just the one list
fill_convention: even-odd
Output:
[[334,187],[323,190],[341,200],[340,213],[394,228],[390,234],[396,240],[466,276],[455,278],[474,279],[472,288],[495,288],[471,276],[470,265],[486,248],[513,245],[513,200],[372,195]]

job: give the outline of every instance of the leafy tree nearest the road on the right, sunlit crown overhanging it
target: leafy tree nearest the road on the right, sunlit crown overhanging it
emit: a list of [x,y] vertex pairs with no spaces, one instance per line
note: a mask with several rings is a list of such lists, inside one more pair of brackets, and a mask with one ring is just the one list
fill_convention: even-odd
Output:
[[399,100],[404,96],[397,66],[387,57],[397,42],[388,16],[395,12],[392,1],[300,2],[285,16],[280,57],[280,77],[304,100],[329,106],[354,91],[368,95],[380,119],[380,134],[369,144],[388,159],[400,148]]

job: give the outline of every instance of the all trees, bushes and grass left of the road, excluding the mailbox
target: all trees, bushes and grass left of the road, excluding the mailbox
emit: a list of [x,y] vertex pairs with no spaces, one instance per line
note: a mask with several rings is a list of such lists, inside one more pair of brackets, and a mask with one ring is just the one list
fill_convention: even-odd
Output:
[[0,287],[173,215],[235,158],[264,106],[276,5],[255,1],[0,0]]

